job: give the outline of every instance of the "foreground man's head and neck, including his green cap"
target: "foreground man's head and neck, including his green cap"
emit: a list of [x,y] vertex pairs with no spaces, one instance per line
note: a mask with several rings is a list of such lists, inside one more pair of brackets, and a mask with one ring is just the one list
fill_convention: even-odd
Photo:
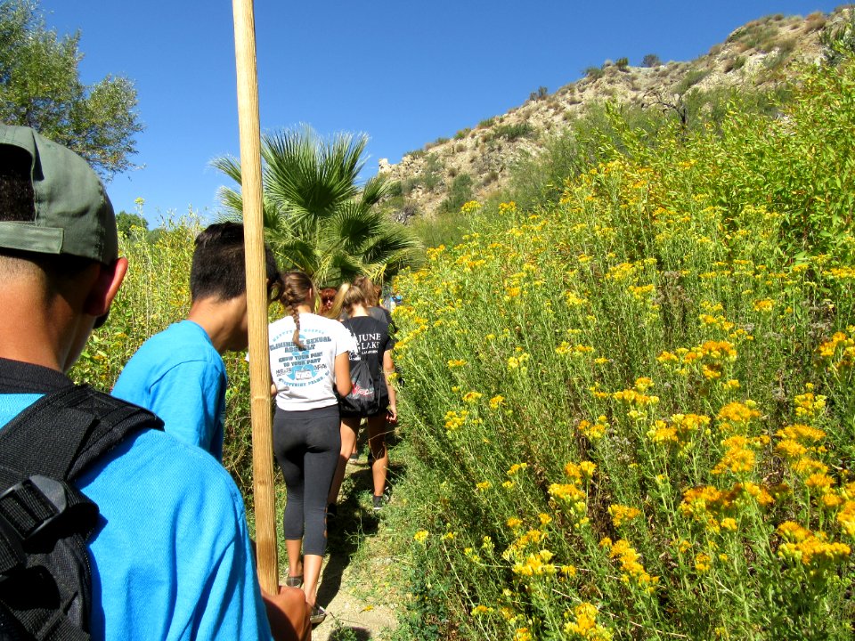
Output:
[[69,369],[126,267],[110,199],[85,160],[29,127],[0,125],[0,355]]

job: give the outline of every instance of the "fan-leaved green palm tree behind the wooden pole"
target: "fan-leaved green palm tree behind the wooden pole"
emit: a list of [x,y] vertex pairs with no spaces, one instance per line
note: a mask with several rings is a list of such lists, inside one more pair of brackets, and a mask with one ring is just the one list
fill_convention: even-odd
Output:
[[[360,188],[368,137],[320,138],[309,127],[262,136],[265,235],[283,266],[299,269],[319,285],[394,276],[419,260],[420,244],[400,223],[376,207],[387,193],[383,176]],[[240,161],[216,158],[212,165],[240,184]],[[240,192],[221,187],[225,218],[240,219]]]

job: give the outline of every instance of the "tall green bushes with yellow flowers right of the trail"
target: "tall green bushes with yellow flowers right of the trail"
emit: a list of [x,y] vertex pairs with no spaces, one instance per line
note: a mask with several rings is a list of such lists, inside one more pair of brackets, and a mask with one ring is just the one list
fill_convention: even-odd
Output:
[[851,638],[853,87],[606,107],[396,280],[408,637]]

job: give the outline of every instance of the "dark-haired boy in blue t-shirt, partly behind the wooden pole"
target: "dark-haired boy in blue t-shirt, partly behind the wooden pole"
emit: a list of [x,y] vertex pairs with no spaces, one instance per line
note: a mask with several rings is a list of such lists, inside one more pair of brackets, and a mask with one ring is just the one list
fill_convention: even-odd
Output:
[[[216,223],[196,238],[190,271],[190,313],[142,344],[112,394],[151,410],[167,434],[223,460],[225,363],[247,349],[247,280],[243,225]],[[265,247],[268,300],[281,275]]]

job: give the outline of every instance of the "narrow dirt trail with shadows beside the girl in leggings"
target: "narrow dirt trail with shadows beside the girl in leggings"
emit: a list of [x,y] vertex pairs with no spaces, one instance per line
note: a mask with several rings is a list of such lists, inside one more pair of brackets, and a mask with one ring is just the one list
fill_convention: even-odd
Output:
[[338,516],[328,523],[328,556],[318,603],[327,619],[315,626],[313,641],[364,641],[388,638],[395,628],[395,595],[387,577],[388,556],[382,514],[371,508],[371,468],[364,450],[347,465]]

